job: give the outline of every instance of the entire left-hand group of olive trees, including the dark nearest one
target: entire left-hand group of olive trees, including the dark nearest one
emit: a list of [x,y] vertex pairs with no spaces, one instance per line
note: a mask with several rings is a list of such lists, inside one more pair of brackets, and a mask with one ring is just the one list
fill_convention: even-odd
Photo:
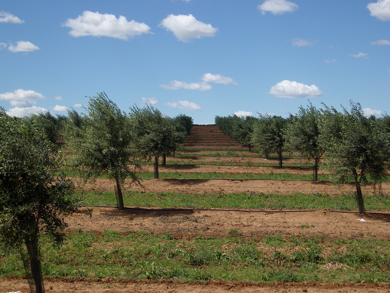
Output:
[[80,209],[81,198],[65,176],[59,152],[60,138],[72,150],[69,165],[86,180],[104,172],[115,179],[119,208],[124,209],[122,184],[138,180],[129,164],[174,152],[191,131],[192,118],[169,118],[152,106],[122,112],[105,93],[91,97],[87,113],[72,110],[68,116],[49,112],[15,118],[0,108],[0,246],[17,248],[25,264],[30,291],[44,292],[40,260],[43,233],[55,245],[64,241],[64,217],[89,213]]

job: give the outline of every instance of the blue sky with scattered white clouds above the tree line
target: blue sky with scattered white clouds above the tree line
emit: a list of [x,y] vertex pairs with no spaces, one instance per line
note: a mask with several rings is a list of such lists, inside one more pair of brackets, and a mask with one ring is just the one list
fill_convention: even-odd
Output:
[[0,4],[0,106],[83,112],[105,91],[197,124],[287,117],[308,100],[390,114],[390,0]]

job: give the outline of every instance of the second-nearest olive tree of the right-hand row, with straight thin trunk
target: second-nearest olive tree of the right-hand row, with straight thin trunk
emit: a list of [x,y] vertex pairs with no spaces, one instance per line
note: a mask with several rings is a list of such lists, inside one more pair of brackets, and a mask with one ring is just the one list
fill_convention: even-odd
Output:
[[324,154],[324,148],[319,143],[321,120],[321,111],[312,104],[307,109],[301,106],[298,114],[290,117],[284,129],[285,146],[299,152],[300,159],[304,161],[314,160],[314,181],[317,181],[318,164]]

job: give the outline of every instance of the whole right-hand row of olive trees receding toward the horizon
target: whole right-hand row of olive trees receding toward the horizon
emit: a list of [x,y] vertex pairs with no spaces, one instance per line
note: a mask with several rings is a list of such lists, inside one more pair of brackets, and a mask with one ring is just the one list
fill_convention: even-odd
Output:
[[[367,118],[360,104],[351,110],[334,107],[300,107],[289,118],[259,114],[259,118],[216,116],[220,130],[239,141],[255,145],[260,152],[276,152],[282,167],[282,152],[298,152],[300,159],[314,161],[314,180],[320,159],[337,184],[353,181],[359,212],[364,212],[361,186],[381,182],[390,159],[390,117]],[[244,132],[241,133],[241,132]]]

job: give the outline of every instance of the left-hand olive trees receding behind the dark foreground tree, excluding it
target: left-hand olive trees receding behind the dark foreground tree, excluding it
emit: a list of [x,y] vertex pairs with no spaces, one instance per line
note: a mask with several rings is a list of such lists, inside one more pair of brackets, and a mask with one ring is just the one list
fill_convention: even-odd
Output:
[[[69,111],[63,137],[72,150],[69,165],[86,180],[106,173],[115,179],[119,209],[124,209],[122,186],[126,178],[139,182],[140,161],[154,157],[154,178],[159,157],[174,154],[192,128],[192,118],[170,118],[151,105],[121,111],[105,93],[90,97],[87,113]],[[130,166],[133,166],[131,168]]]

